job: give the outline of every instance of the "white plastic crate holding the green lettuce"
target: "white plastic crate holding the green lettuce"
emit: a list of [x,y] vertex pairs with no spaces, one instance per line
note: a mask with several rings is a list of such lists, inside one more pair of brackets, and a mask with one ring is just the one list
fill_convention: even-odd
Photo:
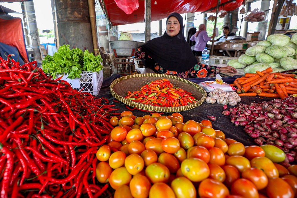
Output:
[[[72,88],[82,92],[88,92],[92,95],[98,95],[103,82],[103,71],[97,72],[81,72],[80,78],[70,79],[68,73],[64,73],[62,80],[66,80],[72,85]],[[61,74],[56,75],[57,78]]]

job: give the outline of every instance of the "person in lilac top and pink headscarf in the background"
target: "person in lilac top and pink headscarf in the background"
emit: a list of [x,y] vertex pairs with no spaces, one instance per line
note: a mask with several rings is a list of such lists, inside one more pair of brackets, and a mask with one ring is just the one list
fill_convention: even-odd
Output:
[[200,24],[198,31],[190,38],[191,41],[196,42],[194,47],[194,55],[202,56],[202,51],[206,47],[207,42],[214,37],[215,34],[213,34],[211,37],[208,37],[206,32],[206,26],[203,23]]

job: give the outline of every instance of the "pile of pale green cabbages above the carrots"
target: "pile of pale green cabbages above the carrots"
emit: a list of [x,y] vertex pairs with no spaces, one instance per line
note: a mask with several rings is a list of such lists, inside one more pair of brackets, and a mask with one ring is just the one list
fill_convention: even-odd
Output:
[[268,67],[272,67],[274,72],[297,69],[297,33],[291,39],[284,34],[272,34],[227,65],[244,68],[245,73],[256,73]]

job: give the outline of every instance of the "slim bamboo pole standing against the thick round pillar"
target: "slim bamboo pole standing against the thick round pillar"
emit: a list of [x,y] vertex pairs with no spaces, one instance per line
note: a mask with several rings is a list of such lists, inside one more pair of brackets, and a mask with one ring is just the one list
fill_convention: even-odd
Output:
[[94,55],[98,56],[99,55],[99,47],[98,47],[98,39],[97,39],[95,2],[94,2],[94,0],[88,0],[88,4],[89,4],[92,40],[93,40],[93,46],[94,46]]

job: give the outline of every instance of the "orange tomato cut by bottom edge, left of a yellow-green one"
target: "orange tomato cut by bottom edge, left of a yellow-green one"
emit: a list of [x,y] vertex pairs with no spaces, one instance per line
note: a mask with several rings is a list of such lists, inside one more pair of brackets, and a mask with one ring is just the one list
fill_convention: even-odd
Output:
[[149,191],[149,198],[176,198],[173,190],[163,182],[154,183]]

